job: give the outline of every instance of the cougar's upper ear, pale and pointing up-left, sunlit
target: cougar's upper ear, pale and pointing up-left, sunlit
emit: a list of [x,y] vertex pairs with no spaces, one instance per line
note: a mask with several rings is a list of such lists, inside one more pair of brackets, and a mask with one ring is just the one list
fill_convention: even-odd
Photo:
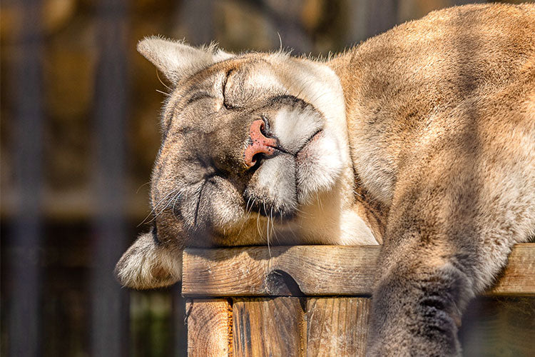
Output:
[[146,37],[139,41],[138,51],[151,61],[173,86],[185,76],[234,56],[215,49],[214,45],[196,49],[183,42],[162,39],[158,36]]

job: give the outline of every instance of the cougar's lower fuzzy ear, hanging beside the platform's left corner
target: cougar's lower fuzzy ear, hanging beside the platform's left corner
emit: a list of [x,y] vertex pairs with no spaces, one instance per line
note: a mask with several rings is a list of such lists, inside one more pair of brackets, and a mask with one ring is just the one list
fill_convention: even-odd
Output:
[[182,278],[182,251],[158,242],[152,232],[142,234],[121,256],[115,274],[128,288],[171,285]]

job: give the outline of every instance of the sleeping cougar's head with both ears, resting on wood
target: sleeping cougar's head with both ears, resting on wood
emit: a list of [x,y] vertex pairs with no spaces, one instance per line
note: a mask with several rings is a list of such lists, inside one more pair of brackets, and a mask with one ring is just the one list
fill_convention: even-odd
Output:
[[352,169],[331,69],[157,37],[138,51],[173,91],[153,169],[153,230],[119,261],[123,284],[177,281],[184,246],[337,243]]

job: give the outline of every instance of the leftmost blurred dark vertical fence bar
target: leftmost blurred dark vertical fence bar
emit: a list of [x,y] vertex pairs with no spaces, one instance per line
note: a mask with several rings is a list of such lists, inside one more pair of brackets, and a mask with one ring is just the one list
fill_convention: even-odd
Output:
[[38,356],[41,343],[39,246],[43,158],[41,1],[19,3],[21,26],[16,38],[15,165],[19,206],[14,220],[10,270],[9,355]]

